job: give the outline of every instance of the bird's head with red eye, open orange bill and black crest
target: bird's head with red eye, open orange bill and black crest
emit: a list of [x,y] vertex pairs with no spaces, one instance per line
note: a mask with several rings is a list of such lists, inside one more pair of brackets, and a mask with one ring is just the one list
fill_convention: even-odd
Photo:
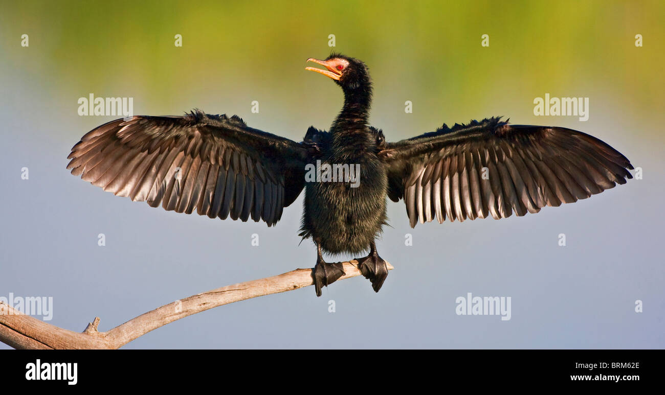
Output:
[[370,75],[367,71],[367,66],[356,58],[333,53],[331,56],[325,58],[325,60],[309,58],[307,62],[321,64],[327,70],[317,67],[306,67],[305,70],[319,72],[332,78],[344,91],[368,88],[370,85]]

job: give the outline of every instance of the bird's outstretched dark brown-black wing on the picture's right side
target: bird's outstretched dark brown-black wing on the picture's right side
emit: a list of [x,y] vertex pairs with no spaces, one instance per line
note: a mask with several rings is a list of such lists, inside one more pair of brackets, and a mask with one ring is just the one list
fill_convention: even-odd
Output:
[[388,196],[404,198],[411,226],[539,212],[624,184],[630,161],[599,139],[564,127],[471,121],[386,143]]

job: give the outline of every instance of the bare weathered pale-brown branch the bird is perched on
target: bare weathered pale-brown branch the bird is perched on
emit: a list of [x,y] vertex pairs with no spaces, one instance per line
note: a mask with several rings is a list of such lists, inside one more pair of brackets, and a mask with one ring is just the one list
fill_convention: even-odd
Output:
[[[340,280],[360,276],[358,262],[343,262]],[[388,264],[388,270],[392,266]],[[99,317],[82,333],[56,327],[0,302],[0,341],[15,349],[118,349],[168,323],[213,307],[253,297],[293,291],[313,285],[311,269],[227,285],[158,307],[107,332],[99,332]]]

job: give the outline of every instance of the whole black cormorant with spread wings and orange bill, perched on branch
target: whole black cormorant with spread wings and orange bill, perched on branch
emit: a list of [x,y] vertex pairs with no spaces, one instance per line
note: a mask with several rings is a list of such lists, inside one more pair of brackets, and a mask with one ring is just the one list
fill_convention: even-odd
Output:
[[[511,125],[500,118],[444,125],[386,143],[368,125],[372,83],[366,65],[331,54],[307,67],[332,78],[344,106],[330,131],[315,127],[296,143],[248,127],[237,116],[194,110],[184,116],[116,119],[86,133],[69,154],[73,175],[132,200],[210,218],[277,223],[305,188],[300,235],[317,246],[317,295],[344,274],[323,252],[358,254],[374,291],[388,270],[375,238],[386,196],[404,199],[412,227],[492,216],[523,216],[624,184],[630,161],[599,139],[564,127]],[[327,171],[327,165],[333,169]],[[323,177],[308,175],[317,169]],[[323,170],[322,170],[323,169]],[[359,172],[354,172],[358,169]],[[359,173],[359,174],[358,174]],[[328,177],[326,177],[328,176]],[[308,182],[311,181],[311,182]]]

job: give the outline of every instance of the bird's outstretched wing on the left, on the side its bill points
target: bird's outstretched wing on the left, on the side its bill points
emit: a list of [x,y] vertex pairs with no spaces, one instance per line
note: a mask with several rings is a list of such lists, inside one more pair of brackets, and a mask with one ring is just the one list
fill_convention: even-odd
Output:
[[67,169],[118,196],[166,210],[268,226],[303,189],[307,151],[237,116],[116,119],[81,137]]

